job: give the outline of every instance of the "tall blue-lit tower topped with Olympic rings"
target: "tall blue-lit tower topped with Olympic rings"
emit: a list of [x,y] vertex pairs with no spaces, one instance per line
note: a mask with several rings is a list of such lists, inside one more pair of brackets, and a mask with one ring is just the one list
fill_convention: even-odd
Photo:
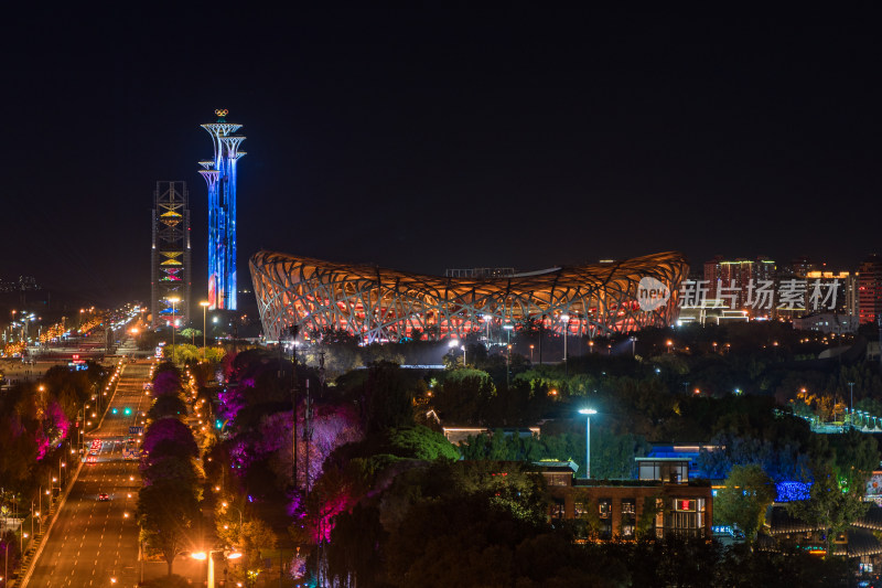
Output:
[[236,310],[236,162],[245,154],[241,125],[227,122],[227,110],[215,110],[216,122],[202,125],[212,136],[214,159],[200,161],[208,184],[208,308]]

